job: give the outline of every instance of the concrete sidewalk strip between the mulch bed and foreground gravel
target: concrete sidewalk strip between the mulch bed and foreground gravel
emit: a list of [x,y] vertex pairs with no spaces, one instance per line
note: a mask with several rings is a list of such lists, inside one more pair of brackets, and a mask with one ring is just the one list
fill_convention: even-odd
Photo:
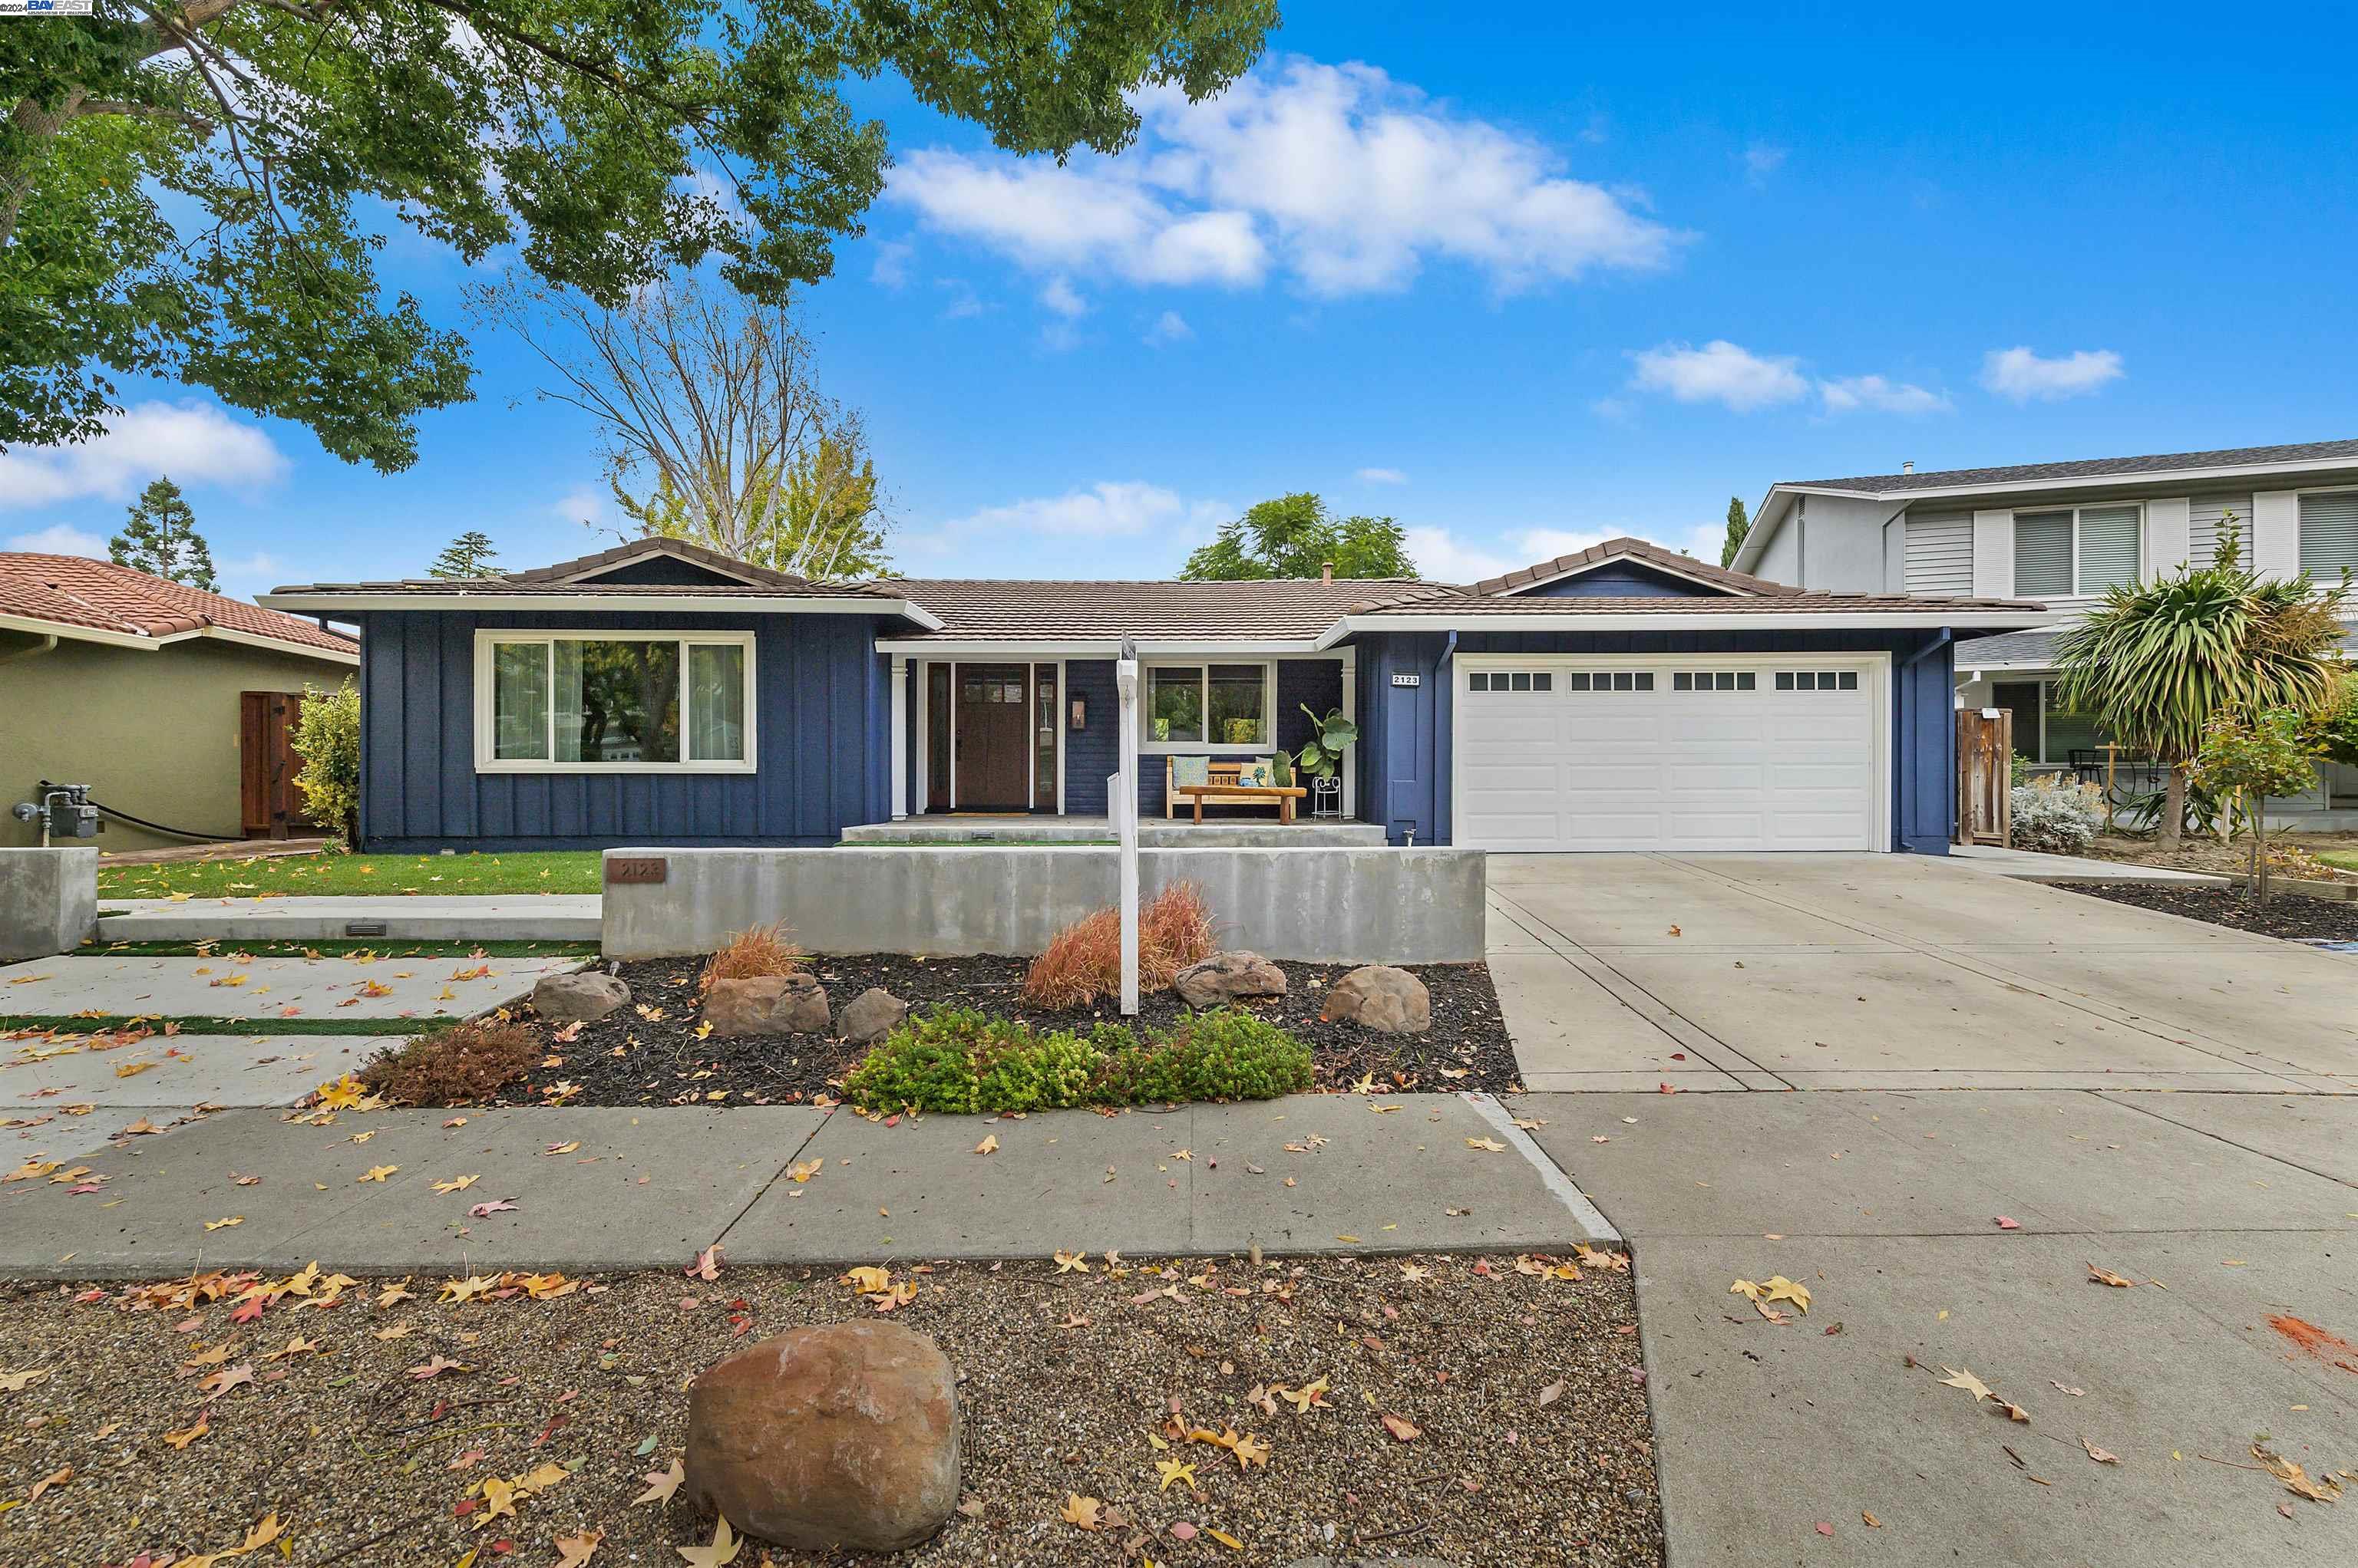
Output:
[[[997,1148],[976,1153],[986,1137]],[[1618,1245],[1476,1094],[894,1127],[795,1106],[382,1111],[328,1127],[231,1111],[78,1162],[106,1177],[99,1191],[38,1174],[0,1186],[0,1278],[314,1259],[347,1273],[582,1273],[681,1266],[710,1243],[738,1264],[830,1266]],[[434,1191],[460,1177],[474,1181]],[[483,1203],[514,1207],[472,1217]],[[236,1224],[208,1231],[222,1219]]]

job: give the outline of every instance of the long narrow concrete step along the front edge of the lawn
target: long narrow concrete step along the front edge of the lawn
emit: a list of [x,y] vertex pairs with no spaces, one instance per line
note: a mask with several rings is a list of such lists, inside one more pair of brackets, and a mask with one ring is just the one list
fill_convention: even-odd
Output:
[[597,894],[99,898],[99,941],[599,938]]

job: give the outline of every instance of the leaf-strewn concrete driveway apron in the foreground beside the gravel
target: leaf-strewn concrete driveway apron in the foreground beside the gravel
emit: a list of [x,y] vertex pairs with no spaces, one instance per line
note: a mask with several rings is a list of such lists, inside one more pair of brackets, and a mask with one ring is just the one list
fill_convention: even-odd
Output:
[[[1516,1106],[1629,1238],[1674,1568],[2358,1561],[2358,1485],[2250,1452],[2358,1471],[2358,1099]],[[1728,1290],[1776,1273],[1809,1316]]]

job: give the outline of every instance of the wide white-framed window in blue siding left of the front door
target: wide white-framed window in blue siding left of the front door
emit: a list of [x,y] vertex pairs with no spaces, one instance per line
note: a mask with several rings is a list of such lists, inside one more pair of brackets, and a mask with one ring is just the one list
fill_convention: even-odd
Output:
[[752,769],[752,632],[483,632],[476,769]]

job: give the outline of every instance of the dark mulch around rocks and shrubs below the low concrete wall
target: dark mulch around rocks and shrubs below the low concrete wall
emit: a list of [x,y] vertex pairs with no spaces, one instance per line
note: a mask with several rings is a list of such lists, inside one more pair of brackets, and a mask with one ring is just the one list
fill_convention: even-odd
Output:
[[[1434,1000],[1434,1026],[1422,1035],[1379,1035],[1351,1023],[1320,1023],[1325,988],[1349,974],[1349,964],[1278,964],[1287,995],[1252,1002],[1262,1016],[1290,1028],[1311,1047],[1318,1087],[1349,1089],[1375,1080],[1384,1094],[1460,1089],[1504,1092],[1516,1087],[1514,1045],[1497,1012],[1488,964],[1410,967]],[[901,955],[816,957],[811,971],[842,1009],[870,986],[915,1007],[964,1004],[988,1014],[1023,1019],[1038,1028],[1087,1030],[1099,1019],[1120,1019],[1113,1002],[1094,1009],[1049,1009],[1023,1002],[1019,957]],[[500,1103],[540,1103],[552,1082],[578,1085],[571,1106],[667,1106],[689,1101],[795,1103],[832,1094],[865,1052],[818,1035],[766,1035],[724,1040],[696,1037],[703,960],[639,960],[623,964],[632,1007],[578,1035],[549,1045],[559,1066],[531,1082],[509,1085]],[[1139,997],[1141,1023],[1167,1026],[1186,1014],[1172,990]],[[1457,1073],[1457,1078],[1450,1078]]]

